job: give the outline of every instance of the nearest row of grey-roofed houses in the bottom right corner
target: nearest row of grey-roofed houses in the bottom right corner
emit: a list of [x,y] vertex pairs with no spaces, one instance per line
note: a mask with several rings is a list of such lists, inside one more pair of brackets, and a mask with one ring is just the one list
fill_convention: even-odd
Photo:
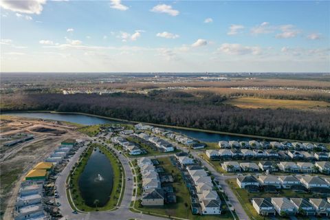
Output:
[[276,215],[280,216],[302,214],[305,216],[319,215],[321,217],[330,216],[330,198],[253,198],[252,206],[263,216]]

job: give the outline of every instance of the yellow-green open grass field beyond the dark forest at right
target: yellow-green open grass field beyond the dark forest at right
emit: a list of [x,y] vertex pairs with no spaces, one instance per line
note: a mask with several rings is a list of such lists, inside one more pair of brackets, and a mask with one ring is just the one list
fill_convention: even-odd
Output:
[[330,107],[329,102],[311,100],[281,100],[268,98],[234,98],[224,103],[244,109],[318,109]]

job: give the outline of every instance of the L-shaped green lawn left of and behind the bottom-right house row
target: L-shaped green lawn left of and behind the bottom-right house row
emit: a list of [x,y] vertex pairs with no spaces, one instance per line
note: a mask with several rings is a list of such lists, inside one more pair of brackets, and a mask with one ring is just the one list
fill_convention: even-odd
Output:
[[[239,188],[239,186],[236,184],[236,179],[227,179],[226,180],[234,194],[236,195],[237,199],[239,199],[239,202],[241,203],[243,209],[245,210],[246,214],[250,217],[250,219],[255,220],[264,220],[264,219],[270,219],[268,217],[262,217],[259,215],[254,207],[252,206],[252,203],[250,202],[252,198],[270,198],[270,197],[288,197],[288,198],[309,198],[313,197],[313,195],[303,192],[295,192],[294,190],[279,190],[278,193],[269,193],[269,192],[257,192],[257,193],[250,193],[248,190],[245,190],[243,188]],[[284,219],[276,216],[276,219]],[[298,217],[298,219],[300,219]],[[301,219],[304,219],[301,217]]]

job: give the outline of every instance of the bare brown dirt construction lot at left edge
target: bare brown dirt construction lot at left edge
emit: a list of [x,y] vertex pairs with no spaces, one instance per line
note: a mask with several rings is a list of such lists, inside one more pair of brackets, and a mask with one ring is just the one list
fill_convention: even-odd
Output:
[[32,166],[43,161],[63,140],[85,138],[71,124],[17,117],[3,120],[1,116],[1,137],[19,133],[32,134],[34,139],[7,148],[1,142],[1,219],[11,218],[19,185]]

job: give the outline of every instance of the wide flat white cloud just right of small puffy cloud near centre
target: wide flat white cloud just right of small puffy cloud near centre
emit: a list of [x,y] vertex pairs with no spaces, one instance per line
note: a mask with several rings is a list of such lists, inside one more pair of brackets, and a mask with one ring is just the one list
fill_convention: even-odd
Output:
[[218,50],[230,55],[260,55],[262,52],[261,47],[243,46],[239,43],[223,43]]

